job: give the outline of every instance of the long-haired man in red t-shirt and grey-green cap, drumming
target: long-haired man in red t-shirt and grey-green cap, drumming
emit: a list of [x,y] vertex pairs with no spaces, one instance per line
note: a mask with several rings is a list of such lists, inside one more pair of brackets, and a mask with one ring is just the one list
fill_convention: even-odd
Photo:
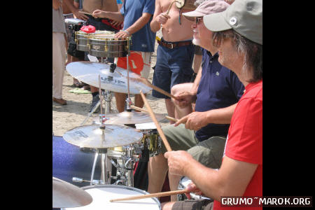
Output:
[[[165,153],[169,173],[188,176],[188,190],[214,200],[162,204],[162,209],[224,209],[225,196],[262,196],[262,0],[236,0],[222,13],[205,15],[218,61],[234,71],[245,92],[235,108],[220,169],[197,162],[186,151]],[[231,209],[231,207],[227,207]],[[232,205],[232,209],[238,209]],[[261,209],[249,206],[246,209]]]

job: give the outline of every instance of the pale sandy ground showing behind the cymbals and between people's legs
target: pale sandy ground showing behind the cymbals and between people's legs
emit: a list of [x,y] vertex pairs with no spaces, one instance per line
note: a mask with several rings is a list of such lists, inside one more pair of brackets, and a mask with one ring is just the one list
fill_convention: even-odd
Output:
[[[160,31],[158,31],[157,36],[160,36]],[[156,62],[156,48],[158,44],[155,42],[155,52],[153,53],[151,59],[151,67],[155,66]],[[152,83],[153,79],[153,69],[151,68],[150,76],[148,78]],[[65,71],[64,74],[64,84],[62,88],[63,98],[66,100],[67,105],[61,106],[55,102],[52,102],[52,132],[55,136],[63,136],[68,130],[80,126],[81,123],[87,118],[87,114],[90,108],[90,103],[92,102],[91,94],[76,94],[69,92],[75,87],[71,87],[73,83],[73,78]],[[167,115],[165,99],[157,99],[152,97],[151,91],[148,92],[146,99],[155,113],[162,113]],[[134,102],[134,98],[132,97]],[[116,109],[115,97],[113,97],[112,107]],[[98,113],[94,113],[93,116],[98,116]],[[90,117],[85,125],[92,123],[92,117]],[[162,120],[160,125],[167,125],[168,120]]]

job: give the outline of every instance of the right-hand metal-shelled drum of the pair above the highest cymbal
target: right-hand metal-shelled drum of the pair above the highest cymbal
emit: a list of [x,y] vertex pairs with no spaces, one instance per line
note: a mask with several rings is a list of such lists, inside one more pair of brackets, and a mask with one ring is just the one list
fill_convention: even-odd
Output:
[[115,34],[99,33],[89,37],[89,54],[95,57],[126,57],[130,54],[131,37],[115,38]]

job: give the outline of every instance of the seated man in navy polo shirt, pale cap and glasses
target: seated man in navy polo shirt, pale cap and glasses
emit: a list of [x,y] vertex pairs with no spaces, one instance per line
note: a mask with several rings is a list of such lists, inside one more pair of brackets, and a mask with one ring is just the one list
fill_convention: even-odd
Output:
[[[229,4],[225,1],[204,1],[196,10],[183,13],[193,20],[193,43],[200,45],[202,69],[198,71],[194,83],[175,85],[172,93],[178,97],[174,103],[181,107],[186,116],[179,119],[175,126],[162,127],[165,137],[173,151],[188,151],[195,160],[203,165],[218,169],[221,166],[226,136],[235,106],[244,92],[244,85],[236,74],[218,62],[218,49],[212,45],[212,32],[204,27],[202,17],[218,13]],[[192,112],[191,103],[196,102]],[[183,123],[183,124],[181,124]],[[167,174],[166,148],[162,154],[150,159],[148,164],[148,193],[158,193]],[[177,190],[180,176],[169,175],[171,190]],[[176,200],[173,196],[172,201]]]

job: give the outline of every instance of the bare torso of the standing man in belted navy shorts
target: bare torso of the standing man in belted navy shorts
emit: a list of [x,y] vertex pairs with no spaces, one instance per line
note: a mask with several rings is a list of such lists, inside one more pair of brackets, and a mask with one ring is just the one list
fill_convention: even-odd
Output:
[[[172,0],[156,0],[160,1],[162,13],[166,13]],[[181,10],[181,13],[189,12],[190,10]],[[191,25],[193,22],[187,20],[181,15],[181,25],[179,25],[179,8],[173,3],[169,10],[169,20],[162,27],[162,36],[165,41],[184,41],[193,38],[193,29]]]

